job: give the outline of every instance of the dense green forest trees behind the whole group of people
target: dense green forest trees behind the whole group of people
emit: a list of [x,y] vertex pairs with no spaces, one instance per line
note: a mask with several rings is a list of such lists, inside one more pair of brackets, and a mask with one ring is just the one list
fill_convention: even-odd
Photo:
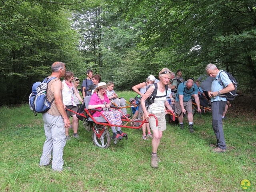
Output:
[[115,90],[163,67],[197,78],[211,62],[255,94],[255,10],[251,0],[1,0],[0,105],[27,102],[55,61]]

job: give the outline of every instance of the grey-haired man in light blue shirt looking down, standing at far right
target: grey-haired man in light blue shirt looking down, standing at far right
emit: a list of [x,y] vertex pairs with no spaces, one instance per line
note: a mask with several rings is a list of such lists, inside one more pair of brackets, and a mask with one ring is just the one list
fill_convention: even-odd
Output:
[[[222,114],[227,100],[225,97],[222,97],[221,94],[228,93],[235,88],[228,78],[228,75],[225,72],[220,73],[221,71],[218,70],[216,65],[210,63],[206,66],[205,70],[211,77],[214,77],[212,88],[208,91],[208,96],[211,98],[212,102],[212,128],[217,139],[217,144],[210,144],[210,146],[214,148],[212,150],[213,152],[226,152],[226,142],[222,127]],[[220,84],[220,79],[223,86]]]

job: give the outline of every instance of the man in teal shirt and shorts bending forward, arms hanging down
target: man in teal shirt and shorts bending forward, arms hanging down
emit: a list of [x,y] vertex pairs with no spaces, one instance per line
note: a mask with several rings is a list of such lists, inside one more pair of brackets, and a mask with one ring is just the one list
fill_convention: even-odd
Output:
[[[192,99],[191,96],[194,95],[197,111],[201,112],[200,109],[200,101],[198,98],[198,88],[194,85],[194,78],[188,78],[187,81],[181,83],[178,86],[178,91],[176,94],[176,104],[175,104],[175,112],[180,114],[181,112],[185,114],[188,112],[188,122],[190,133],[194,132],[193,128],[193,113],[192,113]],[[180,123],[180,128],[184,129],[183,124],[183,115],[178,117],[178,121]]]

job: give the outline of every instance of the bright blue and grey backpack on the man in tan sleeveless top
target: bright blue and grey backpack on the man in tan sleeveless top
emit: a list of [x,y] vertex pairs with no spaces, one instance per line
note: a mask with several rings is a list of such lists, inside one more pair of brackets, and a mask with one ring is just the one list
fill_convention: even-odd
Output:
[[55,79],[56,77],[46,78],[42,83],[36,82],[32,86],[32,93],[29,96],[29,107],[34,112],[35,116],[37,113],[45,113],[47,112],[54,101],[54,98],[51,102],[49,102],[46,98],[46,91],[48,88],[48,83]]

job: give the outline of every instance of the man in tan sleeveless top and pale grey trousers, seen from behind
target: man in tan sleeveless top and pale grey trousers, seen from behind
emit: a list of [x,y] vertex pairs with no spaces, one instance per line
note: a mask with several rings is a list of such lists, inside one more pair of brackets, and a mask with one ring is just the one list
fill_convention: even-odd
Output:
[[46,97],[49,101],[54,98],[51,108],[43,114],[44,132],[46,141],[44,142],[43,153],[39,166],[50,164],[52,155],[52,169],[61,171],[64,161],[62,159],[63,149],[66,145],[65,128],[70,126],[70,120],[65,112],[60,77],[66,72],[65,64],[55,62],[52,64],[52,74],[48,77],[56,77],[48,83]]

